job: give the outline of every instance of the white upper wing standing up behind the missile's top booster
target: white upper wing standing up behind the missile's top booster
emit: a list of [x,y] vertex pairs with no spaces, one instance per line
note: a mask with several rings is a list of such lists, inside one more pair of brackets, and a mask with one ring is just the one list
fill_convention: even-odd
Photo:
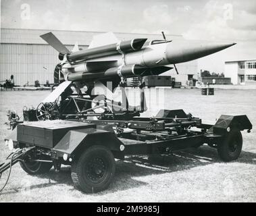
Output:
[[111,45],[113,43],[118,43],[118,38],[113,32],[107,32],[103,34],[97,34],[93,36],[93,41],[91,41],[88,49],[94,47],[101,47],[104,45]]

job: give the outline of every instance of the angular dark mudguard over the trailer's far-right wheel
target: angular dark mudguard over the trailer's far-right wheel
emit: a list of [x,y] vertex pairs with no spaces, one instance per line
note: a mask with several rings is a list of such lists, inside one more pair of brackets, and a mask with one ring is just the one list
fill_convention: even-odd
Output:
[[224,135],[228,131],[250,130],[253,128],[247,115],[221,115],[213,126],[213,134]]

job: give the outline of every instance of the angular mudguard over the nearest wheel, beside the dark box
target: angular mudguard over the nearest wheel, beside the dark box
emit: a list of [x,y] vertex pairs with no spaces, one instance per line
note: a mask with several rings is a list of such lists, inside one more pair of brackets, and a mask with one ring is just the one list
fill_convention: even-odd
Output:
[[[70,130],[55,145],[52,152],[54,157],[62,157],[64,153],[72,155],[92,145],[107,146],[111,151],[120,152],[123,144],[113,132],[96,128]],[[53,155],[52,155],[53,156]]]

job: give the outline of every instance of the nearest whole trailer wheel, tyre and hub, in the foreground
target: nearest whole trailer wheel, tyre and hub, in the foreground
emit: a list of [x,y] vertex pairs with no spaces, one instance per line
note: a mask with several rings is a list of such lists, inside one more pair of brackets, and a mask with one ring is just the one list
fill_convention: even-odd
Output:
[[74,185],[86,193],[105,190],[116,170],[111,151],[105,146],[91,146],[74,160],[71,177]]

